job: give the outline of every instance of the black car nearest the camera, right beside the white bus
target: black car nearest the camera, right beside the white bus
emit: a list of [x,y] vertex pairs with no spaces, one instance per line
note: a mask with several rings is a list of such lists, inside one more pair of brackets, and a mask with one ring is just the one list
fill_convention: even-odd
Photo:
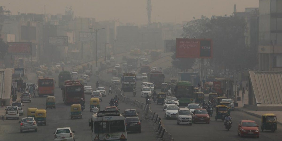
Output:
[[141,133],[141,122],[138,117],[127,117],[125,118],[125,126],[127,132],[139,132]]

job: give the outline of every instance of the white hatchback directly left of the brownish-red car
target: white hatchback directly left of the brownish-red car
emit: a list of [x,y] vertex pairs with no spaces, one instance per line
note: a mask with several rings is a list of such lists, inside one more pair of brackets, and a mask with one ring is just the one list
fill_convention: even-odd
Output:
[[176,123],[192,125],[192,114],[188,108],[179,108],[176,114]]

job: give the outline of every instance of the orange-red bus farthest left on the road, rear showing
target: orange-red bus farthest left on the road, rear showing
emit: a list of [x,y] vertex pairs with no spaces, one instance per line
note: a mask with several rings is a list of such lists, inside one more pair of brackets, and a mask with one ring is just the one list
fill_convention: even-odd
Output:
[[55,80],[54,78],[38,78],[38,89],[37,93],[39,97],[43,95],[54,96],[55,89]]

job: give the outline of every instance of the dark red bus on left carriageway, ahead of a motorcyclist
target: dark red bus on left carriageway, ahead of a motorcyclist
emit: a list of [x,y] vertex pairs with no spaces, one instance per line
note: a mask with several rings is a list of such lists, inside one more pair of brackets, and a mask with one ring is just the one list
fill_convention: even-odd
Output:
[[81,98],[84,99],[83,85],[77,80],[65,81],[61,89],[63,90],[63,101],[67,105],[79,103]]

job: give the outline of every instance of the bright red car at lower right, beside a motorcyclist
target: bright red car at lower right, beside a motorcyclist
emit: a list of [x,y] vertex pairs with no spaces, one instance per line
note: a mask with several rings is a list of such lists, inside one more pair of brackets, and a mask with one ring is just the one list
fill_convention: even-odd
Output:
[[255,136],[259,138],[259,126],[252,120],[241,120],[238,125],[238,136]]

